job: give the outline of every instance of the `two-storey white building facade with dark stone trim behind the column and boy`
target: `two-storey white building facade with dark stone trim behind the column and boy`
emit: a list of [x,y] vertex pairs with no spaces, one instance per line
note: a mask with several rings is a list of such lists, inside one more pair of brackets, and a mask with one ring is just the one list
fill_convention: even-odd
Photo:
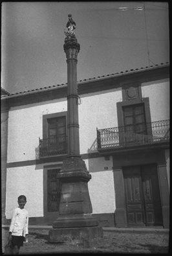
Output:
[[[169,227],[169,64],[78,82],[80,154],[102,226]],[[3,223],[20,194],[30,224],[58,216],[67,85],[1,96]]]

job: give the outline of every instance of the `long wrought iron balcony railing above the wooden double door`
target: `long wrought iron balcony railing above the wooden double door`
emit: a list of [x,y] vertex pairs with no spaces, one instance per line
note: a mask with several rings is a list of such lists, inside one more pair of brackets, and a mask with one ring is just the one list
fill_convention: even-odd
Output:
[[169,141],[169,120],[156,121],[145,124],[146,134],[135,134],[132,130],[125,132],[125,126],[98,129],[98,150],[124,146],[151,145]]

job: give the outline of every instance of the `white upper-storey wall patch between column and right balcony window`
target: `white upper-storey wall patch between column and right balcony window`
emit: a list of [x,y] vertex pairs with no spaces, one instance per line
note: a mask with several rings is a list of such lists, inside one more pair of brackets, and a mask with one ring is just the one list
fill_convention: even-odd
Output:
[[118,126],[116,102],[122,101],[122,89],[81,95],[79,105],[80,153],[91,150],[98,129]]

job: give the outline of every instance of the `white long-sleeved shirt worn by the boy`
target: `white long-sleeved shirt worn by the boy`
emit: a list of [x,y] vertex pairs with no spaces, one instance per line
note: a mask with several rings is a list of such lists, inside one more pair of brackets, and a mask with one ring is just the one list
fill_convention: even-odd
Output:
[[12,235],[23,236],[28,234],[28,211],[17,207],[12,215],[9,232]]

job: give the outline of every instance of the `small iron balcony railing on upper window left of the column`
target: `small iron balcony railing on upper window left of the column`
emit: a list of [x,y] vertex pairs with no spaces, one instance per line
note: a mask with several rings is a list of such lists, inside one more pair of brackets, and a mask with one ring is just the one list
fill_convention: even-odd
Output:
[[39,139],[39,157],[67,154],[67,136],[50,136]]

